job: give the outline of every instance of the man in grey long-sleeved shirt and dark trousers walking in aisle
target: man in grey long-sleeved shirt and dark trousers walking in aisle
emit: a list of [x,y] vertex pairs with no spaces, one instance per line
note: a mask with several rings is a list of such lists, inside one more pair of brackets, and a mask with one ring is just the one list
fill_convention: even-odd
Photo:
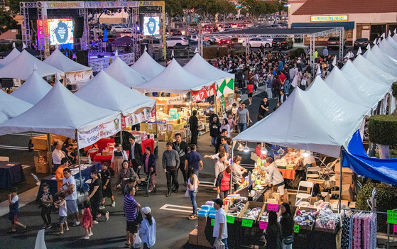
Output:
[[178,192],[179,183],[177,177],[177,167],[179,165],[179,155],[176,150],[173,150],[173,143],[167,142],[167,150],[163,153],[163,169],[165,177],[167,177],[168,193],[165,197],[169,197],[172,192],[172,184],[175,184],[174,193]]

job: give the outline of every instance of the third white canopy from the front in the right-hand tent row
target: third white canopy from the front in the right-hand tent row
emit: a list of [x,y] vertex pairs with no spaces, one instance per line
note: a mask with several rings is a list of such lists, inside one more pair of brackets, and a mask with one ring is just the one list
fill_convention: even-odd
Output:
[[344,99],[351,101],[355,104],[361,106],[368,106],[369,108],[374,106],[374,103],[369,104],[367,96],[362,95],[362,93],[356,88],[357,85],[352,84],[349,79],[344,77],[343,73],[338,67],[334,67],[330,74],[324,80],[332,91],[342,96]]

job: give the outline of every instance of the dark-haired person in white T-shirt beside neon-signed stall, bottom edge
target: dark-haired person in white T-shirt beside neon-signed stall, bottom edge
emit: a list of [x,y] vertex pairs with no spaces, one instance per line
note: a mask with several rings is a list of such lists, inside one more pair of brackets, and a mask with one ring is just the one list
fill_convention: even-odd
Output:
[[[214,231],[212,236],[215,238],[215,243],[219,243],[219,240],[224,243],[224,248],[229,249],[227,247],[227,223],[226,223],[226,213],[222,209],[223,201],[222,199],[213,199],[214,201],[214,209],[217,209],[215,212],[215,221],[214,221]],[[218,240],[218,241],[217,241]]]

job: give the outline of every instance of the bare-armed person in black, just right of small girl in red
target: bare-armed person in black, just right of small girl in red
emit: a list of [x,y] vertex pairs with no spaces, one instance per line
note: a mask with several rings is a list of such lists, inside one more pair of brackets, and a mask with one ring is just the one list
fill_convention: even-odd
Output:
[[92,207],[92,223],[97,224],[97,213],[104,215],[105,221],[109,220],[109,212],[104,209],[99,209],[103,194],[102,194],[102,182],[98,178],[98,171],[91,170],[91,184],[89,184],[89,196],[87,201],[91,203]]

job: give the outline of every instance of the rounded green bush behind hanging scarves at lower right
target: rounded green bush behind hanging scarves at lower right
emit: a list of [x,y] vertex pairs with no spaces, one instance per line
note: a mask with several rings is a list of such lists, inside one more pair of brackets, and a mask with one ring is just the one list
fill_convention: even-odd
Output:
[[[372,190],[376,188],[376,211],[387,212],[397,207],[397,187],[391,187],[388,184],[369,182],[361,187],[357,195],[356,209],[368,210],[371,208],[366,203],[366,200],[372,196]],[[382,233],[387,232],[387,215],[378,214],[378,231]]]

